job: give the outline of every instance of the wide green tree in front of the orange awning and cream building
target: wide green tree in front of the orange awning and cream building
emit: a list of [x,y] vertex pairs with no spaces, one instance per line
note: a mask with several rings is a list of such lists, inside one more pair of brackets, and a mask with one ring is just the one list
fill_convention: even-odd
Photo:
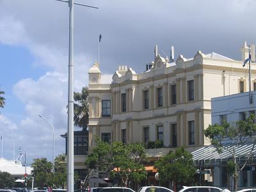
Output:
[[129,181],[140,182],[147,178],[143,166],[146,159],[145,148],[141,143],[120,142],[104,143],[96,138],[92,153],[88,155],[86,164],[91,170],[100,167],[106,170],[111,177],[121,180],[122,186],[128,186]]

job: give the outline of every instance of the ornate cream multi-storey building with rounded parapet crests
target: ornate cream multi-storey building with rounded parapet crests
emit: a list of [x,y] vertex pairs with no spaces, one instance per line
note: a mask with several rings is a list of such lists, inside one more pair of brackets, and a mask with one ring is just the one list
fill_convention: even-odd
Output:
[[241,53],[241,61],[197,51],[175,62],[156,53],[152,67],[139,74],[120,66],[105,75],[95,62],[88,72],[89,140],[95,134],[109,142],[161,140],[164,147],[190,151],[209,145],[203,131],[211,124],[211,98],[249,90],[248,65],[242,67],[246,42]]

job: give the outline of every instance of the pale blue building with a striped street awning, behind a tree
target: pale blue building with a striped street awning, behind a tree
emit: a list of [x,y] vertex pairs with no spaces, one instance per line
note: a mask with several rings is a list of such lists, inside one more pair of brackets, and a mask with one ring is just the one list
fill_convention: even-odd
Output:
[[[249,95],[249,92],[245,92],[212,98],[212,124],[227,122],[234,125],[238,120],[248,118],[251,113],[255,114],[256,90],[252,92],[252,103],[250,103]],[[241,165],[245,162],[246,156],[252,152],[252,158],[239,174],[237,186],[239,189],[255,188],[256,149],[254,148],[252,150],[253,142],[248,141],[239,146],[231,140],[225,142],[225,147],[228,148],[228,150],[235,150],[236,162]],[[207,182],[211,182],[213,186],[229,188],[231,190],[232,175],[228,175],[227,162],[232,160],[233,156],[228,150],[224,149],[223,152],[219,154],[214,146],[209,145],[192,152],[192,154],[194,165],[200,172],[204,173],[204,179],[207,179]],[[201,181],[201,183],[202,182],[203,181]]]

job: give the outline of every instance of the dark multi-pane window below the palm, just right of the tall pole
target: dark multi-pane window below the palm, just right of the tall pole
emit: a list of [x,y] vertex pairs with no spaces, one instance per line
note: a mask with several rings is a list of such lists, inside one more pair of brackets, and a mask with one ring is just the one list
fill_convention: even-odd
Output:
[[88,137],[74,136],[74,155],[88,154]]

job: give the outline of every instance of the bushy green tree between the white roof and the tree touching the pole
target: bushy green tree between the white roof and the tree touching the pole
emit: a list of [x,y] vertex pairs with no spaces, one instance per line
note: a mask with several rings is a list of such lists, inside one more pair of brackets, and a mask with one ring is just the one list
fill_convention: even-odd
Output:
[[51,161],[47,161],[46,158],[37,158],[34,159],[31,167],[33,168],[31,173],[35,179],[36,187],[42,189],[47,186],[53,186]]

